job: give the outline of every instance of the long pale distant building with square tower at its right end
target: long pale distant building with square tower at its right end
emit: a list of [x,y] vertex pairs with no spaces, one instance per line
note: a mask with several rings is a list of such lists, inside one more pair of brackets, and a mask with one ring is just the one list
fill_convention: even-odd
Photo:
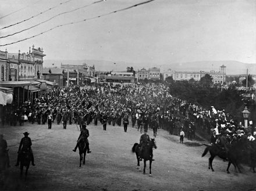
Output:
[[166,72],[163,72],[163,81],[167,77],[172,77],[175,81],[182,81],[182,80],[190,80],[194,79],[195,81],[200,81],[202,77],[204,77],[205,74],[211,75],[213,78],[214,84],[223,84],[223,82],[226,82],[226,66],[222,65],[220,67],[219,71],[211,70],[209,72],[207,71],[173,71],[168,70]]

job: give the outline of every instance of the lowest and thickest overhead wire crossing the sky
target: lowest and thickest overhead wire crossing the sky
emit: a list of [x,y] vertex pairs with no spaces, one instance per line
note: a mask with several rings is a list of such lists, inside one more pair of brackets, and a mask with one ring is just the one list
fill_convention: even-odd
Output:
[[[103,0],[102,0],[102,1],[103,1]],[[115,10],[115,11],[113,11],[113,12],[109,12],[109,13],[105,13],[105,14],[102,14],[102,15],[99,15],[99,16],[91,17],[91,18],[89,18],[89,19],[83,19],[83,20],[75,21],[75,22],[71,22],[71,23],[60,24],[60,25],[58,25],[58,26],[55,26],[55,27],[49,28],[48,30],[43,31],[42,33],[38,33],[38,34],[36,34],[36,35],[33,35],[33,36],[31,36],[31,37],[28,37],[28,38],[21,39],[21,40],[16,41],[16,42],[11,42],[11,43],[8,43],[8,44],[0,45],[0,47],[1,47],[1,46],[6,46],[6,45],[16,44],[16,43],[18,43],[18,42],[26,41],[27,39],[31,39],[31,38],[34,38],[34,37],[38,37],[39,35],[42,35],[42,34],[44,34],[44,33],[47,33],[47,32],[49,32],[49,31],[51,31],[51,30],[54,30],[55,28],[58,28],[58,27],[63,27],[63,26],[71,25],[71,24],[77,24],[77,23],[81,23],[81,22],[84,22],[84,21],[87,21],[87,20],[98,19],[99,17],[103,17],[103,16],[111,15],[111,14],[113,14],[113,13],[121,12],[121,11],[123,11],[123,10],[131,9],[131,8],[136,7],[136,6],[143,5],[143,4],[145,4],[145,3],[150,3],[150,2],[152,2],[152,1],[155,1],[155,0],[149,0],[149,1],[144,1],[144,2],[141,2],[141,3],[137,3],[137,4],[132,5],[132,6],[129,6],[129,7],[127,7],[127,8],[118,9],[118,10]]]

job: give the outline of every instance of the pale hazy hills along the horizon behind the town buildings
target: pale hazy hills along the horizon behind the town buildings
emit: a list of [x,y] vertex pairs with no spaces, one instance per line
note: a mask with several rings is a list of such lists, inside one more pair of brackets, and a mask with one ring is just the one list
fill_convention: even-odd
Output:
[[[54,63],[54,65],[52,65]],[[152,64],[152,63],[127,63],[127,62],[112,62],[106,60],[44,60],[44,67],[60,67],[62,64],[79,65],[87,63],[88,66],[95,66],[97,71],[126,71],[127,67],[133,67],[134,70],[140,70],[143,67],[148,69],[150,67],[158,67],[161,72],[168,69],[176,71],[219,71],[219,67],[224,64],[226,66],[227,75],[256,74],[256,64],[248,64],[237,61],[199,61],[187,63],[170,63],[170,64]],[[116,64],[114,64],[116,63]]]

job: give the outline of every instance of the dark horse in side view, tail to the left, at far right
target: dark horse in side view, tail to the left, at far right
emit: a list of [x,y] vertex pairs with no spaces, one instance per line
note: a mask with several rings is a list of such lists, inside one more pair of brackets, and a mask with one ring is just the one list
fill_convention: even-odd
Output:
[[214,168],[212,168],[212,161],[214,160],[215,156],[219,156],[223,160],[226,160],[227,158],[227,160],[229,161],[229,164],[227,165],[227,170],[226,170],[228,174],[230,174],[229,167],[231,164],[234,165],[235,170],[236,168],[238,168],[239,172],[241,172],[239,164],[243,158],[244,150],[246,150],[244,146],[245,145],[243,140],[238,140],[237,142],[232,144],[229,143],[227,145],[227,152],[220,145],[207,146],[204,150],[204,153],[202,153],[202,157],[204,157],[205,154],[207,154],[207,152],[209,151],[209,153],[211,154],[211,157],[209,157],[208,168],[211,169],[212,171],[214,171]]

